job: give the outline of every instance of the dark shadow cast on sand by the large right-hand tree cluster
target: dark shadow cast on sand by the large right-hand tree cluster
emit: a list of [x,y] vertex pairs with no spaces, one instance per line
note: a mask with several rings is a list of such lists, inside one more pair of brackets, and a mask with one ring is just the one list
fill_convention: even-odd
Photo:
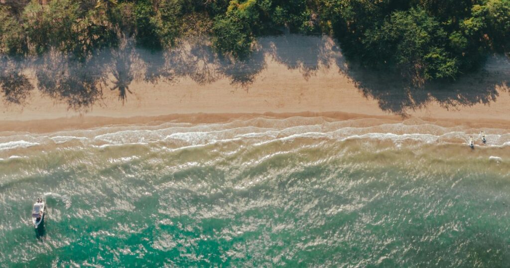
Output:
[[366,98],[376,100],[381,110],[403,117],[432,102],[447,110],[476,104],[490,105],[496,101],[500,91],[508,89],[510,77],[510,65],[503,58],[491,58],[486,68],[456,81],[427,83],[421,87],[387,72],[352,67],[343,62],[338,65],[343,66],[343,74]]

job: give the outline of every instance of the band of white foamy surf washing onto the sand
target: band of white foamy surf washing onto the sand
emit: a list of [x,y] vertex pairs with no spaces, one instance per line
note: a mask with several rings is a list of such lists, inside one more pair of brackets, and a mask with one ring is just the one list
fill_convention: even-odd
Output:
[[[362,127],[355,127],[360,125]],[[12,148],[26,148],[52,142],[62,144],[80,140],[85,145],[105,148],[117,145],[153,144],[157,147],[185,148],[193,145],[207,145],[214,142],[238,141],[258,146],[275,141],[305,139],[350,139],[393,140],[397,145],[406,140],[423,143],[465,143],[467,137],[476,132],[465,126],[442,127],[422,124],[424,121],[405,121],[377,125],[372,119],[326,121],[321,117],[291,117],[286,119],[255,118],[235,120],[226,124],[174,124],[159,126],[125,125],[84,131],[58,132],[50,136],[17,137],[18,141],[0,143],[0,151]],[[416,125],[413,125],[415,124]],[[504,147],[510,145],[510,133],[503,129],[485,129],[487,142],[476,144],[481,147]],[[476,135],[473,135],[476,136]],[[0,137],[1,138],[1,137]],[[12,139],[12,137],[10,137]],[[20,140],[23,139],[23,140]],[[2,140],[0,139],[0,142]],[[106,143],[106,144],[105,144]],[[169,145],[168,143],[171,143]],[[174,149],[172,149],[174,150]],[[179,150],[179,149],[176,149]]]

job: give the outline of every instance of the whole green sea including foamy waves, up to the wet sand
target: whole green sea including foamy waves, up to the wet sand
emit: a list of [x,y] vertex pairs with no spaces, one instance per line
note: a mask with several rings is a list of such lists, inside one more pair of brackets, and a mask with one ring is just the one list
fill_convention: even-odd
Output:
[[508,131],[374,122],[0,133],[0,266],[509,265]]

